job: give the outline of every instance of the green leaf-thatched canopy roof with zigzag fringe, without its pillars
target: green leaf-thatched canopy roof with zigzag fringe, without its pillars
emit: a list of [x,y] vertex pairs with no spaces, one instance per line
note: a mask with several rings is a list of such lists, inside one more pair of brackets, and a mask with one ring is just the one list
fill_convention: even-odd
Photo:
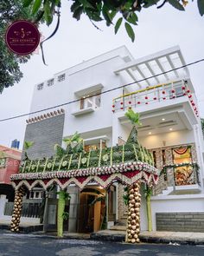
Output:
[[12,186],[30,189],[40,183],[45,189],[54,182],[62,189],[75,184],[86,187],[89,182],[108,187],[114,181],[131,185],[137,181],[156,185],[160,171],[154,167],[152,155],[137,141],[134,127],[122,146],[67,154],[61,158],[22,161],[19,174],[10,177]]

